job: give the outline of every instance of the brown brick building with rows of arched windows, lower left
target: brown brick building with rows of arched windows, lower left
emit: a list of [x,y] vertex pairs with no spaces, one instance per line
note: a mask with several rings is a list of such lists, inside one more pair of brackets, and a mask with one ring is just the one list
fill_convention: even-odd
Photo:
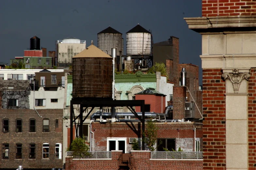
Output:
[[63,167],[63,109],[35,109],[31,95],[29,80],[0,78],[0,168]]

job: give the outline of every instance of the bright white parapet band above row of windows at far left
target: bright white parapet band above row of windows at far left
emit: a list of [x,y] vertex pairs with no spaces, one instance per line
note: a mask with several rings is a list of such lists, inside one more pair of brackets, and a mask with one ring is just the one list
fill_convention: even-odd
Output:
[[[27,74],[35,74],[43,69],[0,69],[0,74],[4,74],[4,80],[7,80],[7,74],[23,74],[23,80],[27,80]],[[52,72],[63,72],[63,69],[47,69]]]

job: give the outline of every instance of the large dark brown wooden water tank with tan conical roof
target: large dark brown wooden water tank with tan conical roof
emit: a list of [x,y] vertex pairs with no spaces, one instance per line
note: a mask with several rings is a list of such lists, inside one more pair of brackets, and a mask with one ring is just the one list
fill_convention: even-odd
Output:
[[72,58],[73,98],[112,99],[113,58],[90,45]]

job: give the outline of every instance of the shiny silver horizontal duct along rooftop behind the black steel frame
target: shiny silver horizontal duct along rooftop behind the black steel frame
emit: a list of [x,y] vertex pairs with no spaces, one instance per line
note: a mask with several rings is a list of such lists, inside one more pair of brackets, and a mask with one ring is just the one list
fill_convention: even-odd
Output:
[[[112,113],[108,112],[108,113],[103,113],[102,114],[102,118],[111,118]],[[139,117],[142,117],[142,112],[137,112],[138,116]],[[96,120],[97,118],[100,118],[101,114],[99,112],[97,113],[93,113],[91,116],[90,116],[90,119],[91,120]],[[133,113],[129,113],[129,112],[116,112],[115,113],[115,117],[118,117],[118,118],[125,118],[125,116],[131,116],[131,118],[136,118],[136,116],[133,114]],[[154,113],[154,112],[145,112],[145,118],[153,118],[153,119],[165,119],[165,117],[168,116],[168,115],[165,115],[163,113]],[[100,118],[100,121],[101,121],[101,118]]]

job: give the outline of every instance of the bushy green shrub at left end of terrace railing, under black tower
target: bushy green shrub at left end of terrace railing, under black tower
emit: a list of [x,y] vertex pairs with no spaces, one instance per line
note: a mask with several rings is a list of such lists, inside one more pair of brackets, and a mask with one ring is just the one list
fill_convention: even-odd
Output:
[[75,140],[72,141],[70,147],[67,148],[67,151],[73,151],[72,156],[74,157],[82,157],[89,156],[88,153],[89,147],[85,144],[85,138],[77,137]]

